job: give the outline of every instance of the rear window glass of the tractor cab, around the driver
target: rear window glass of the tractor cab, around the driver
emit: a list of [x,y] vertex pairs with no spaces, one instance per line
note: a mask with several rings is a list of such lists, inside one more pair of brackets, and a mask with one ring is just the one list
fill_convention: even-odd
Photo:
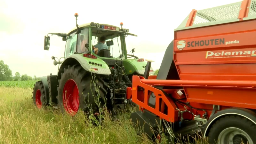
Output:
[[[106,33],[106,34],[102,34],[102,33]],[[93,36],[92,36],[92,44],[93,45],[96,45],[98,43],[100,43],[100,37],[101,36],[106,36],[106,41],[105,41],[105,44],[107,45],[108,41],[111,41],[113,40],[113,45],[108,45],[108,49],[110,50],[110,54],[111,56],[113,56],[113,58],[118,58],[123,52],[122,52],[122,49],[124,48],[124,46],[122,45],[123,43],[121,43],[121,34],[120,33],[113,33],[112,31],[98,31],[98,33],[100,34],[97,34],[97,32],[93,33]],[[121,36],[121,37],[120,37]]]

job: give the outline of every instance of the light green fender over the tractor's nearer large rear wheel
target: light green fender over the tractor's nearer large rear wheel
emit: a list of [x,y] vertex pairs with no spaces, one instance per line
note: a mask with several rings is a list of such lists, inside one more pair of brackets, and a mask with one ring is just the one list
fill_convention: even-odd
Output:
[[[97,65],[92,65],[92,62],[96,63]],[[80,64],[86,71],[89,71],[95,74],[102,74],[102,75],[111,74],[111,71],[108,68],[108,65],[106,64],[105,61],[99,58],[91,59],[91,58],[83,57],[83,54],[73,54],[68,56],[65,60],[62,61],[60,70],[57,74],[57,79],[60,78],[60,73],[63,72],[65,67],[67,67],[68,65],[74,65],[74,64]],[[93,68],[97,68],[98,70],[94,70]]]

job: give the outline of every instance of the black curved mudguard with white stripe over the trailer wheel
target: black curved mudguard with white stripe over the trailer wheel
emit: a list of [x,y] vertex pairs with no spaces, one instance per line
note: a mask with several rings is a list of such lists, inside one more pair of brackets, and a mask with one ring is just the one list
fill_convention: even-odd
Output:
[[252,110],[249,110],[246,108],[226,108],[212,115],[209,118],[209,120],[204,124],[203,130],[202,130],[204,134],[203,137],[205,138],[206,136],[208,136],[211,126],[214,124],[214,122],[216,122],[221,117],[227,116],[227,115],[243,116],[248,120],[252,121],[256,125],[256,113],[253,112]]

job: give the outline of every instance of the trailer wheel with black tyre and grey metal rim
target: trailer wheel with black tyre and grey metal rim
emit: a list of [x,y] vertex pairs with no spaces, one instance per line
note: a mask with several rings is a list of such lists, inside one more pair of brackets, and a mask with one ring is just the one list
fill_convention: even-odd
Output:
[[[236,132],[232,132],[236,131]],[[228,132],[229,139],[228,139]],[[238,134],[237,132],[240,132]],[[224,116],[217,120],[211,127],[208,138],[209,144],[228,144],[228,140],[232,140],[232,144],[241,144],[241,139],[246,144],[256,144],[256,125],[252,121],[242,116]]]

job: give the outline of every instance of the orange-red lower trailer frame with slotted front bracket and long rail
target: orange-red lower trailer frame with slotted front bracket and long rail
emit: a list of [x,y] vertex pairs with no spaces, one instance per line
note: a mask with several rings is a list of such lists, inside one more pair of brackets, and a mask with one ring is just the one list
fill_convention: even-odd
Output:
[[[132,77],[132,101],[140,106],[140,110],[147,109],[148,111],[156,114],[160,118],[167,121],[175,122],[179,120],[178,110],[185,110],[184,105],[176,103],[164,95],[164,93],[154,88],[153,86],[182,86],[187,89],[186,95],[184,93],[179,95],[177,89],[164,90],[176,99],[186,97],[183,102],[189,102],[192,107],[203,108],[209,117],[212,112],[212,105],[220,105],[220,110],[229,107],[252,108],[256,109],[256,82],[255,81],[189,81],[189,80],[148,80],[142,76]],[[144,88],[139,90],[138,87]],[[153,92],[156,96],[156,107],[152,108],[148,105],[148,98],[150,94],[148,91]],[[222,94],[223,93],[223,94]],[[241,99],[243,94],[243,99]],[[160,106],[160,101],[166,105],[167,114],[164,114],[163,103]],[[205,111],[186,108],[193,112],[195,115],[202,115]],[[183,118],[190,119],[189,112],[183,114]]]

